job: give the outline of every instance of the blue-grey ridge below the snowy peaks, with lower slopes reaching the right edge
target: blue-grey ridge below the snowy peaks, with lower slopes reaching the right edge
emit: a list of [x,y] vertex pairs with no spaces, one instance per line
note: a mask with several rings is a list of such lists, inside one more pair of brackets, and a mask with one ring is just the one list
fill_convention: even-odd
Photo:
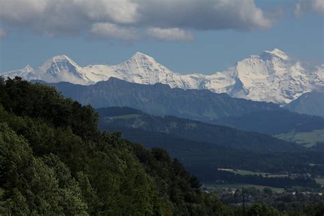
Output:
[[64,82],[46,85],[53,85],[64,96],[95,108],[133,107],[154,116],[176,116],[267,134],[324,128],[320,117],[300,115],[273,103],[231,98],[208,90],[172,89],[161,83],[143,85],[113,77],[95,85]]

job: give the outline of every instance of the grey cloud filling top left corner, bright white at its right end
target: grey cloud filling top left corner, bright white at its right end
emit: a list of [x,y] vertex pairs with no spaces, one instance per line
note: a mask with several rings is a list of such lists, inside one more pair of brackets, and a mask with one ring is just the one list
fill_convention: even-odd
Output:
[[45,35],[75,35],[94,23],[134,23],[137,4],[131,0],[0,0],[4,24]]

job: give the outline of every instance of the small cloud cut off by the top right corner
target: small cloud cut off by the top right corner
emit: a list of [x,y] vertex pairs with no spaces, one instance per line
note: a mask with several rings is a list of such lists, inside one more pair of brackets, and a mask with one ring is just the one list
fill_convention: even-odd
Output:
[[295,5],[295,16],[302,16],[308,12],[324,14],[324,0],[299,0]]

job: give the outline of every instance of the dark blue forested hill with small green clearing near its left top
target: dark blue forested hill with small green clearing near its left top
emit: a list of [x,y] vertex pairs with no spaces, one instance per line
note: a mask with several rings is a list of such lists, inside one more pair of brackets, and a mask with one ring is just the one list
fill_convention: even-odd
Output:
[[261,133],[239,131],[227,126],[206,124],[174,116],[162,118],[130,108],[119,109],[120,111],[118,111],[118,107],[96,109],[100,116],[100,129],[115,131],[116,128],[130,128],[168,133],[191,141],[217,144],[217,146],[252,152],[298,152],[305,150],[301,146]]

